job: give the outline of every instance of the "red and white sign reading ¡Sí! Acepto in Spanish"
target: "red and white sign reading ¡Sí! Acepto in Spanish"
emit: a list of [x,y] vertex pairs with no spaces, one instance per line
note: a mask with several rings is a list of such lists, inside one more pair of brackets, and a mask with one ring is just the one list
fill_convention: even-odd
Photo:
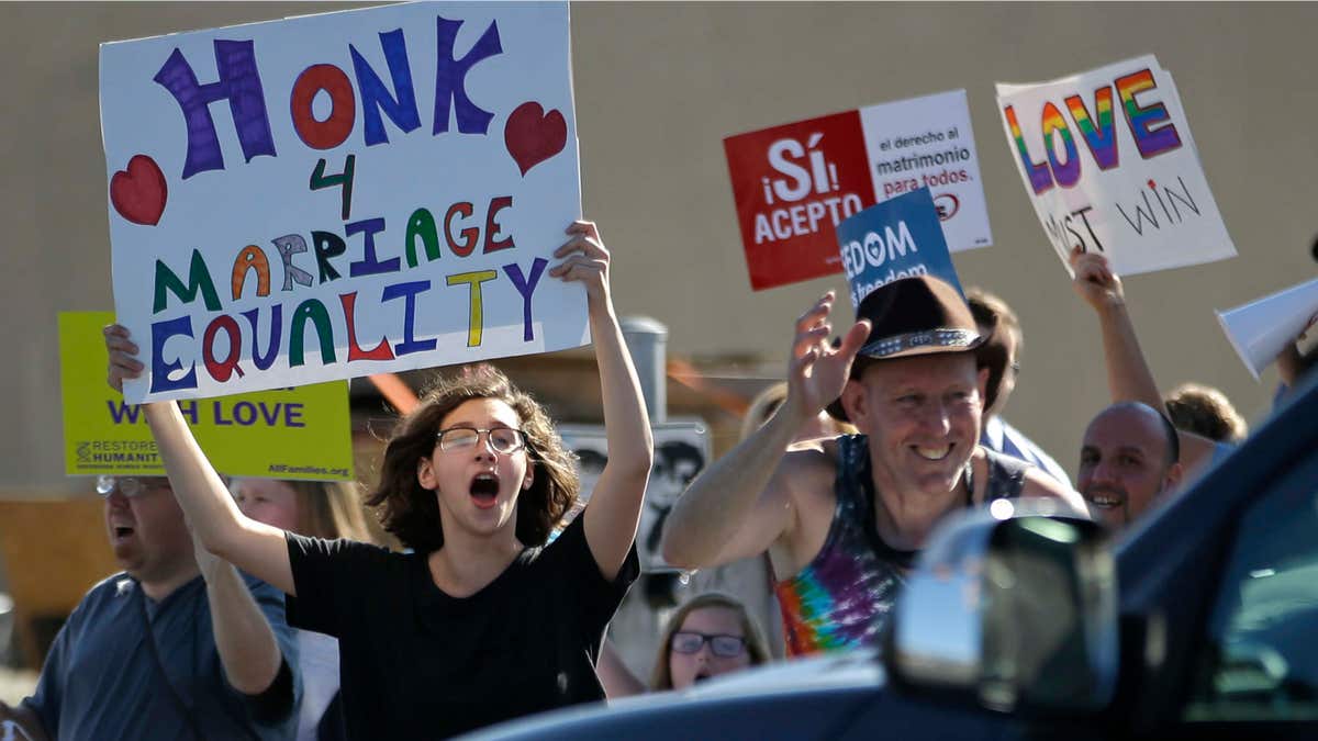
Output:
[[837,225],[927,187],[953,252],[992,244],[966,91],[724,140],[755,290],[842,270]]

